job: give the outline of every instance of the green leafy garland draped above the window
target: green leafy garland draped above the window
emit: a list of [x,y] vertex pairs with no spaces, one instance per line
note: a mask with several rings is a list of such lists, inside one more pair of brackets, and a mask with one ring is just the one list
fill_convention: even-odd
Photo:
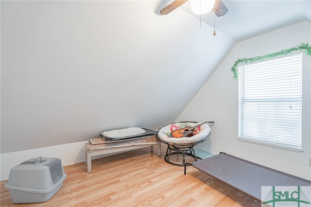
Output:
[[251,58],[238,59],[237,61],[234,62],[234,65],[231,68],[231,71],[233,72],[233,78],[234,79],[238,78],[237,68],[238,68],[238,64],[240,64],[240,63],[249,63],[249,62],[268,60],[268,59],[272,59],[275,57],[287,55],[291,52],[296,52],[296,51],[301,51],[301,52],[311,56],[311,46],[309,46],[308,43],[300,43],[299,46],[295,46],[293,48],[281,50],[280,52],[265,54],[262,56],[255,56],[255,57],[251,57]]

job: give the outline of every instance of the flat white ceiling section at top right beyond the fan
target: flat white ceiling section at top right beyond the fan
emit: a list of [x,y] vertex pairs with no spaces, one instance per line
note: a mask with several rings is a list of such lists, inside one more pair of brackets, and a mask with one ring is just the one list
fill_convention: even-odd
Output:
[[[311,0],[222,0],[228,12],[215,16],[214,12],[201,15],[202,22],[217,31],[242,41],[298,22],[311,22]],[[191,11],[190,0],[180,8],[200,19]]]

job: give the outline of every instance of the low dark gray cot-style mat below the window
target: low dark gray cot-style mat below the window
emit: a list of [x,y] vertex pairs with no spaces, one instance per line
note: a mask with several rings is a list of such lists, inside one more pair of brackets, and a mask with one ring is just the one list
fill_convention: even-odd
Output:
[[311,181],[221,153],[186,163],[260,201],[261,186],[311,186]]

